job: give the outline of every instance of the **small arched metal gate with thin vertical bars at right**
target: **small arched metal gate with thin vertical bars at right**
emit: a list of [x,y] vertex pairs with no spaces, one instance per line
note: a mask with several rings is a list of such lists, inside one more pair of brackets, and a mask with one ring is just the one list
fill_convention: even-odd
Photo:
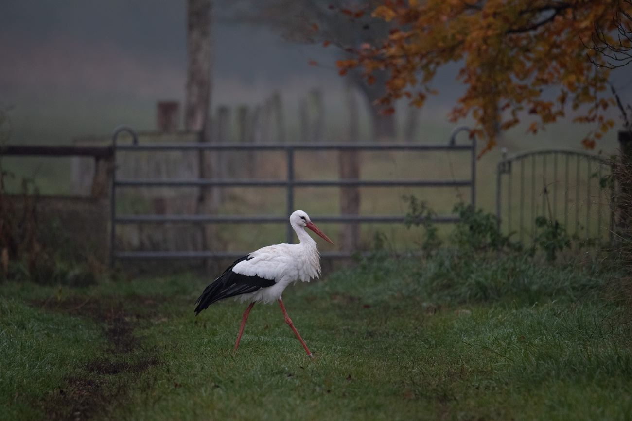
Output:
[[544,217],[580,244],[612,241],[612,190],[601,183],[611,171],[607,159],[576,149],[516,154],[503,149],[496,184],[499,228],[532,244],[538,234],[536,219]]

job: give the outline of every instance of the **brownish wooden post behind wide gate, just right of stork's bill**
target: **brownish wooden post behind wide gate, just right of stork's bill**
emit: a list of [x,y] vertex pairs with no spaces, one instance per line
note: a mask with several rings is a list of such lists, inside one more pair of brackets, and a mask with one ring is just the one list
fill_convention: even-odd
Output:
[[[347,106],[349,108],[349,142],[358,141],[358,102],[351,85],[346,88]],[[358,180],[360,178],[360,159],[358,151],[342,149],[340,151],[339,170],[341,180]],[[340,188],[340,214],[358,215],[360,213],[360,188]],[[360,226],[357,223],[346,223],[341,229],[341,250],[356,250],[360,237]]]

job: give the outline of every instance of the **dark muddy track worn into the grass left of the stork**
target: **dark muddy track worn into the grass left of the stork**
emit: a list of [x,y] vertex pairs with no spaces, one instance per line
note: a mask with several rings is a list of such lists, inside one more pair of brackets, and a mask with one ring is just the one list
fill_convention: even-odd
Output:
[[[149,303],[148,303],[149,301]],[[138,374],[161,364],[155,349],[145,349],[134,335],[139,323],[154,318],[151,300],[135,297],[100,297],[88,300],[69,299],[54,304],[34,306],[73,316],[82,316],[102,323],[107,339],[106,352],[81,367],[81,376],[66,379],[40,403],[47,420],[83,421],[107,415],[126,399],[130,382]],[[141,304],[143,307],[139,307]],[[142,311],[130,311],[130,308]],[[135,374],[126,376],[126,374]]]

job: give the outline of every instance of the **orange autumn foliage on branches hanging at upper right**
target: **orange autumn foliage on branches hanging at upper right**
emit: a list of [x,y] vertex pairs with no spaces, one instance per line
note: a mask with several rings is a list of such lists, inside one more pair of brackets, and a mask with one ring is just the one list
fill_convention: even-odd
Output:
[[[437,71],[456,62],[466,93],[450,118],[475,119],[473,134],[487,139],[483,153],[524,112],[535,117],[528,128],[535,133],[568,108],[578,113],[574,122],[593,124],[582,141],[593,148],[614,126],[605,117],[614,100],[606,92],[604,46],[630,51],[629,37],[617,43],[613,35],[622,21],[629,23],[631,10],[629,0],[382,0],[372,16],[393,25],[387,40],[363,43],[338,66],[362,69],[367,81],[387,71],[380,103],[392,107],[408,98],[422,107],[436,93],[430,82]],[[629,25],[624,28],[629,34]]]

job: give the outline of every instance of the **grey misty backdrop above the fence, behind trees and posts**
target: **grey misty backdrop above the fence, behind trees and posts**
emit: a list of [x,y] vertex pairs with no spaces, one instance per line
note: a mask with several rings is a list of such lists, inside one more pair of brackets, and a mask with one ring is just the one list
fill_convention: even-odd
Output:
[[[319,88],[325,103],[325,136],[339,137],[332,132],[345,129],[344,78],[335,66],[340,51],[288,42],[266,25],[245,23],[231,4],[214,4],[212,110],[261,103],[278,90],[288,139],[297,141],[296,103],[310,89]],[[0,107],[8,110],[11,120],[9,142],[69,144],[76,136],[107,135],[119,124],[152,130],[156,101],[182,103],[185,1],[5,0],[0,9]],[[319,66],[310,66],[310,61]],[[447,119],[464,89],[455,77],[456,66],[437,75],[434,84],[440,94],[419,111],[420,141],[447,141],[456,127]],[[629,71],[617,71],[613,83],[629,103]],[[368,137],[363,107],[363,136]],[[404,103],[398,105],[399,122],[408,117],[405,108]],[[611,113],[620,126],[617,110]],[[580,147],[588,130],[572,124],[571,118],[535,137],[519,126],[504,135],[501,146],[511,151],[554,146],[551,142]],[[616,130],[611,130],[597,150],[614,153],[616,147]],[[489,154],[490,159],[498,154]]]

